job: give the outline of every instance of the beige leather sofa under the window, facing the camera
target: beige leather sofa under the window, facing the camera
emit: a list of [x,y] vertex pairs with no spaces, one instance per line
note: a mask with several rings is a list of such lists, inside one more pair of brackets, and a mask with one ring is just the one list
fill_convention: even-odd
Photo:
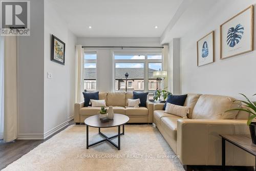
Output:
[[[131,108],[127,107],[127,99],[133,98],[133,92],[99,92],[99,99],[106,101],[108,106],[113,106],[114,113],[129,116],[129,123],[152,123],[154,104],[147,102],[146,107]],[[100,107],[84,107],[83,102],[75,103],[75,123],[84,123],[84,119],[97,115]]]

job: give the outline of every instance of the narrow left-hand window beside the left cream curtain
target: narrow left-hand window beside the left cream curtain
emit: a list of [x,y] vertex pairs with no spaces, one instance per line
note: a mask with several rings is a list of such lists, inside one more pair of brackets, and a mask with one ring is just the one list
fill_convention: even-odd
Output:
[[84,53],[84,82],[83,88],[86,91],[97,89],[97,53]]

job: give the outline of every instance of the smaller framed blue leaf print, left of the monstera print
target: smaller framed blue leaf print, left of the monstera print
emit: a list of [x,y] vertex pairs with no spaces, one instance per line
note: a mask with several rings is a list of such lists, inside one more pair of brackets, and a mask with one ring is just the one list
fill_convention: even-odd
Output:
[[214,62],[214,31],[197,41],[197,66]]

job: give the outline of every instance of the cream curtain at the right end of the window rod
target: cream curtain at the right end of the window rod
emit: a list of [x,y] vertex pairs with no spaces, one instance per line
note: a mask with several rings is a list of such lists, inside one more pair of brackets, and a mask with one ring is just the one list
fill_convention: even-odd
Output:
[[168,65],[169,65],[169,46],[164,45],[162,49],[162,60],[163,60],[163,69],[162,71],[167,71],[167,78],[163,80],[163,90],[168,91],[168,77],[169,77],[169,71],[168,71]]

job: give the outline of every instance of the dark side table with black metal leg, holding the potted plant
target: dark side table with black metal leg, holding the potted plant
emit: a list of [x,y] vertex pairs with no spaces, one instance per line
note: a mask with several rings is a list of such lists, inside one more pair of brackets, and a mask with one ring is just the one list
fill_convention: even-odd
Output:
[[[225,141],[230,142],[233,145],[243,149],[244,151],[250,153],[256,157],[256,145],[251,142],[250,135],[220,135],[222,139],[222,170],[225,170],[226,165],[226,147]],[[256,158],[255,158],[256,164]]]

